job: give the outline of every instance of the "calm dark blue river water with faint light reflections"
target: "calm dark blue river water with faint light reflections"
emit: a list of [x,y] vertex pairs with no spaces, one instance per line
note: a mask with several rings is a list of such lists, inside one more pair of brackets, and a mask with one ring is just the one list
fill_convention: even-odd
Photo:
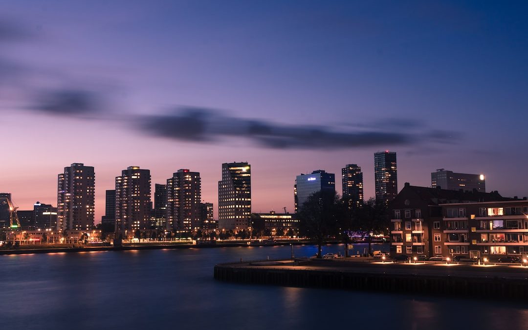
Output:
[[528,305],[213,279],[215,263],[268,256],[290,247],[0,256],[0,329],[528,328]]

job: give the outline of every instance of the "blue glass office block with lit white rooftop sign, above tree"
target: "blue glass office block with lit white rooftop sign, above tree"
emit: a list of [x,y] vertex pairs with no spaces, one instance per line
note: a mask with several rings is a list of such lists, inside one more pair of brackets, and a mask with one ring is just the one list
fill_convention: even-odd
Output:
[[318,169],[312,174],[297,175],[294,186],[295,212],[297,213],[310,195],[318,192],[327,196],[334,196],[334,173],[326,173],[322,169]]

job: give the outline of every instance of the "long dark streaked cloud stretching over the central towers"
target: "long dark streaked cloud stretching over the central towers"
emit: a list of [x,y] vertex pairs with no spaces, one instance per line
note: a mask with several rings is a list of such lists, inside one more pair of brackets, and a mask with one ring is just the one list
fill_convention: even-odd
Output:
[[235,118],[203,108],[184,108],[167,115],[142,116],[137,120],[137,125],[150,135],[175,140],[212,142],[231,137],[243,138],[263,147],[283,149],[410,146],[423,142],[447,143],[452,140],[451,133],[443,131],[341,131],[329,126],[275,124],[258,119]]

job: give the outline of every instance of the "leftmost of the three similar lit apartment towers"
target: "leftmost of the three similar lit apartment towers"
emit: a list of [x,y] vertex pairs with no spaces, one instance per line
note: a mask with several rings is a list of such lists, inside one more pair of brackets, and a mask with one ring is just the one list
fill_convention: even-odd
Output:
[[59,174],[57,197],[58,230],[93,228],[95,172],[93,166],[73,163]]

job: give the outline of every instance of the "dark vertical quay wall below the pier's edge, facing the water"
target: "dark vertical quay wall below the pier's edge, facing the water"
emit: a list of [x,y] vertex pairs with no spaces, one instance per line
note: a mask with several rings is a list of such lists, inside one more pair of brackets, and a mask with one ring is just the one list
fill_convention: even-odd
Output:
[[383,293],[426,294],[486,299],[524,300],[527,279],[396,275],[334,270],[277,269],[216,265],[216,280],[239,284],[276,285],[304,288],[368,290]]

